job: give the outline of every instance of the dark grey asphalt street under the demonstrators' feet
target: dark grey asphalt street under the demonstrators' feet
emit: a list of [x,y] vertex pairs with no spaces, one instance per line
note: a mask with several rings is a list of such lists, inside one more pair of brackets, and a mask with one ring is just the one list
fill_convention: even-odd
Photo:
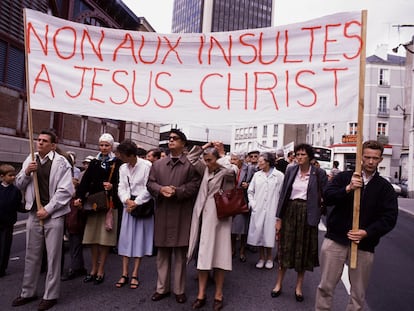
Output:
[[[410,211],[413,200],[400,199],[400,208]],[[367,308],[371,311],[411,310],[414,304],[414,216],[401,211],[397,227],[382,240],[377,248],[376,260],[367,294]],[[23,215],[20,215],[22,218]],[[25,231],[16,230],[14,235],[11,262],[8,274],[0,279],[0,310],[33,310],[38,301],[22,307],[11,307],[11,301],[19,295],[23,266]],[[320,232],[320,241],[324,233]],[[86,265],[89,267],[90,252],[84,251]],[[224,310],[313,310],[315,289],[319,282],[320,271],[305,276],[305,301],[298,303],[294,298],[295,273],[289,271],[278,298],[271,298],[270,291],[274,286],[276,269],[258,270],[255,268],[257,254],[247,253],[248,260],[241,263],[234,259],[233,271],[226,275],[224,288]],[[66,257],[66,260],[67,257]],[[81,278],[62,282],[61,297],[52,310],[190,310],[196,298],[197,280],[194,263],[188,266],[187,297],[185,304],[177,304],[174,296],[159,302],[152,302],[150,297],[156,284],[155,257],[142,260],[140,269],[140,286],[133,290],[128,286],[115,288],[114,283],[121,275],[121,259],[111,254],[108,258],[105,282],[101,285],[84,284]],[[39,283],[39,295],[44,283],[42,274]],[[211,283],[207,291],[205,310],[211,309],[214,287]],[[346,287],[340,283],[336,289],[333,310],[344,310],[347,302]]]

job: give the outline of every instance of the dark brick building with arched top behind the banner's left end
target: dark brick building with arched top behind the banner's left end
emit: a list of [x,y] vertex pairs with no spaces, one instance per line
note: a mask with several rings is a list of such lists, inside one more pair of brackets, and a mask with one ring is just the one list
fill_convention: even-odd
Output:
[[[29,153],[23,8],[88,25],[153,32],[116,0],[3,0],[0,1],[0,162],[19,165]],[[103,132],[115,140],[131,138],[144,148],[158,145],[159,126],[49,111],[32,111],[33,132],[54,128],[62,150],[75,151],[78,159],[97,152]],[[79,163],[78,163],[79,164]]]

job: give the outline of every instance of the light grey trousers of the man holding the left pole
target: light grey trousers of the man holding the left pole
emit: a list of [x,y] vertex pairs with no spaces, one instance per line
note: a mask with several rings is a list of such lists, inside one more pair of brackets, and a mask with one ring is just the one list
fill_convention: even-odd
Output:
[[43,299],[57,299],[60,293],[60,274],[64,216],[48,218],[40,225],[36,212],[30,212],[26,223],[26,258],[21,297],[37,295],[43,248],[47,252],[47,275]]

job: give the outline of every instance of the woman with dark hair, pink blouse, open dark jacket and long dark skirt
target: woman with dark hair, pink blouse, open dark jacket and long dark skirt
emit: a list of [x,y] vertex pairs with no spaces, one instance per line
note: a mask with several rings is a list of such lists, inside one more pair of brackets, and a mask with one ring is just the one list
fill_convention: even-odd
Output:
[[276,213],[276,234],[280,236],[279,269],[271,296],[276,298],[282,293],[286,270],[295,269],[295,298],[302,302],[305,271],[313,271],[319,266],[318,224],[327,176],[323,169],[311,165],[314,159],[311,145],[295,146],[295,156],[297,164],[286,170]]

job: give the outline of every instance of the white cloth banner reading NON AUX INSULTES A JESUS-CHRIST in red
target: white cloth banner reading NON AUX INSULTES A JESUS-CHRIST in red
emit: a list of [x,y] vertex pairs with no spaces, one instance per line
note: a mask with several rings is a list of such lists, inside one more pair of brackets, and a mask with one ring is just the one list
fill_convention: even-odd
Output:
[[33,109],[153,123],[357,120],[361,12],[207,34],[25,16]]

